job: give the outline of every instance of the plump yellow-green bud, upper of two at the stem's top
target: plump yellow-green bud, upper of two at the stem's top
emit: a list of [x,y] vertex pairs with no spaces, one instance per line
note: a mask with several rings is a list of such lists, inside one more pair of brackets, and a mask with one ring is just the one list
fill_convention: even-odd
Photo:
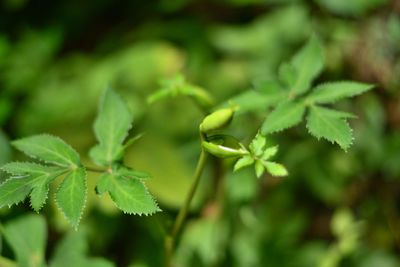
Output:
[[234,110],[232,108],[223,108],[214,111],[204,118],[203,122],[200,124],[200,131],[208,133],[227,126],[232,120],[233,113]]

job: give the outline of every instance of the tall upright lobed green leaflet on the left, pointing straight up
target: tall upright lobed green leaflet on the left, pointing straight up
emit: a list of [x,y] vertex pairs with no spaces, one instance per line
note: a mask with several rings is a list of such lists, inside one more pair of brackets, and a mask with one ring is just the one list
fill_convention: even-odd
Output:
[[122,142],[132,126],[132,114],[122,98],[113,90],[104,93],[94,132],[99,144],[92,148],[90,157],[101,166],[108,166],[122,157]]

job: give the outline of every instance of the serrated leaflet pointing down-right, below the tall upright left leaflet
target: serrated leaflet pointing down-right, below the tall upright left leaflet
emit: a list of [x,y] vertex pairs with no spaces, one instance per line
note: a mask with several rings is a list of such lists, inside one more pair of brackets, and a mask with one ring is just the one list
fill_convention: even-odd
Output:
[[115,205],[125,213],[150,215],[160,211],[144,183],[139,179],[124,176],[118,169],[103,174],[96,190],[100,194],[107,191]]

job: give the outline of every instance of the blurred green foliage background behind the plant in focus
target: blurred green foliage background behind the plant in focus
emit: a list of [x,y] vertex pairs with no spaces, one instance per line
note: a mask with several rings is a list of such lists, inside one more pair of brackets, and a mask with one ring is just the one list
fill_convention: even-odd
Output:
[[[203,114],[176,97],[148,105],[159,80],[183,73],[217,103],[244,106],[228,132],[248,143],[267,107],[252,82],[274,77],[308,37],[323,42],[320,81],[375,90],[349,101],[355,141],[345,153],[296,127],[269,137],[290,176],[256,179],[209,162],[176,254],[179,266],[400,266],[400,2],[397,0],[0,1],[0,163],[24,158],[9,140],[42,132],[82,153],[107,86],[123,95],[145,135],[128,165],[149,172],[163,213],[135,217],[95,196],[81,230],[90,254],[116,266],[161,266],[165,228],[181,206],[199,153]],[[88,163],[90,165],[90,163]],[[1,179],[4,179],[2,177]],[[54,192],[56,188],[51,190]],[[1,222],[31,212],[0,210]],[[46,255],[70,231],[43,210]],[[10,247],[0,246],[12,258]]]

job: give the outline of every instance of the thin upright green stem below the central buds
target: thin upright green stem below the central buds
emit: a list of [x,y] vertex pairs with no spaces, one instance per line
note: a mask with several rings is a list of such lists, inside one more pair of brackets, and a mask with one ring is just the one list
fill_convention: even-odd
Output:
[[172,253],[174,251],[174,246],[176,242],[176,238],[183,226],[183,223],[186,219],[186,216],[189,212],[190,203],[192,202],[193,196],[196,193],[197,187],[200,182],[201,174],[203,173],[205,163],[207,161],[208,153],[201,149],[199,161],[197,162],[196,171],[194,173],[194,179],[192,186],[190,187],[189,193],[186,196],[185,203],[179,210],[178,216],[175,219],[174,225],[172,227],[172,231],[169,235],[165,238],[165,267],[172,267]]

